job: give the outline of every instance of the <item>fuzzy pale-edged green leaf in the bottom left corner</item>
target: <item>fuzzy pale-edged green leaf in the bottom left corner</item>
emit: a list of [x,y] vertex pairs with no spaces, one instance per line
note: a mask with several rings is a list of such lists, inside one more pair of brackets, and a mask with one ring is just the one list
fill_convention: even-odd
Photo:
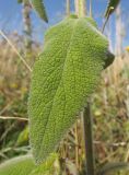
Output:
[[0,165],[0,175],[28,175],[35,168],[32,155],[23,155]]

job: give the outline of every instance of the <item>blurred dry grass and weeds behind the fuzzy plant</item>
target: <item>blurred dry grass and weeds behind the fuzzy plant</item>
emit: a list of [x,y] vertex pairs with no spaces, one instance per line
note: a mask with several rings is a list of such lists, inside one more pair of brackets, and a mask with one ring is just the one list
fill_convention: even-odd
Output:
[[[43,46],[38,39],[33,39],[31,4],[26,2],[22,9],[23,33],[20,34],[16,28],[3,32],[32,68]],[[110,161],[129,162],[129,46],[125,47],[124,43],[128,34],[127,27],[124,27],[128,24],[122,20],[124,15],[122,5],[119,5],[114,15],[116,43],[113,43],[114,28],[110,22],[106,26],[105,34],[110,40],[116,60],[102,73],[102,82],[92,97],[97,167]],[[30,71],[7,40],[0,37],[0,163],[31,150],[27,121],[30,82]],[[84,150],[80,120],[60,143],[58,152],[63,174],[77,175],[77,172],[83,172]]]

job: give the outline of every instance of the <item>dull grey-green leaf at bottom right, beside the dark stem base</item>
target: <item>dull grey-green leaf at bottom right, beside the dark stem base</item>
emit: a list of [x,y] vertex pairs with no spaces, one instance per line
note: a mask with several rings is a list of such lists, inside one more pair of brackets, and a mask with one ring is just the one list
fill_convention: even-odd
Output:
[[108,175],[112,172],[115,173],[121,170],[129,170],[129,164],[126,162],[108,163],[104,167],[102,167],[97,175]]

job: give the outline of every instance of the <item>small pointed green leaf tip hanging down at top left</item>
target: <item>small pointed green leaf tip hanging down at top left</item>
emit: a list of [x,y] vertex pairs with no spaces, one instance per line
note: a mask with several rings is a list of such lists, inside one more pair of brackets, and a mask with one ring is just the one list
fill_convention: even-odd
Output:
[[31,0],[33,8],[38,13],[39,18],[45,22],[48,22],[46,9],[43,0]]

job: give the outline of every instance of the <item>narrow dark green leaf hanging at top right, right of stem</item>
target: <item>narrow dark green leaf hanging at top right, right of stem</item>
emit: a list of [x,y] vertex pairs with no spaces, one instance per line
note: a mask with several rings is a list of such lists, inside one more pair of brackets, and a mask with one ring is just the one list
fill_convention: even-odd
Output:
[[108,18],[118,7],[120,0],[108,0],[108,4],[105,12],[105,18]]

